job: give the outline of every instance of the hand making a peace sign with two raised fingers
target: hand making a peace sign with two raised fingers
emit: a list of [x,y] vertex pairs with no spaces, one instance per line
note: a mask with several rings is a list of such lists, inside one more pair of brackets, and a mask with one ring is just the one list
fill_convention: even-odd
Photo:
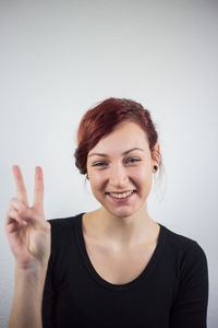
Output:
[[12,198],[7,212],[5,232],[20,269],[45,267],[50,256],[50,223],[44,214],[44,177],[40,166],[35,171],[34,203],[28,206],[23,176],[13,166],[17,198]]

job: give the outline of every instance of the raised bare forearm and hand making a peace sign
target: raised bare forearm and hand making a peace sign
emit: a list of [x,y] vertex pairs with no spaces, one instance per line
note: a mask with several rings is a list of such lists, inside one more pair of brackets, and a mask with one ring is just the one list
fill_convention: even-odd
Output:
[[13,166],[17,198],[12,198],[5,232],[15,257],[15,289],[9,328],[41,328],[41,298],[50,257],[50,224],[44,214],[43,171],[36,167],[34,204],[28,206],[19,166]]

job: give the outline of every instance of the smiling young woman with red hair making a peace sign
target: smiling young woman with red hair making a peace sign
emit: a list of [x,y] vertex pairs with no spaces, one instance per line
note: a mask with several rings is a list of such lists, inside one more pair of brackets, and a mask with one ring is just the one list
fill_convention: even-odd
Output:
[[28,207],[19,166],[5,230],[15,256],[12,327],[206,328],[208,272],[202,247],[147,211],[161,169],[148,110],[125,98],[89,109],[77,132],[75,163],[97,210],[46,220],[36,167]]

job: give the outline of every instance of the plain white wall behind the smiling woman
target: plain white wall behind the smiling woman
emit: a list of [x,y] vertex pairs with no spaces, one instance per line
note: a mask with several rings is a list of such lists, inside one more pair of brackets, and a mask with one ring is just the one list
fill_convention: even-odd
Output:
[[73,153],[82,115],[109,96],[152,113],[166,190],[161,200],[152,192],[149,213],[205,249],[208,327],[217,327],[217,33],[216,0],[0,1],[0,327],[14,286],[4,233],[12,165],[29,203],[43,167],[48,219],[97,208]]

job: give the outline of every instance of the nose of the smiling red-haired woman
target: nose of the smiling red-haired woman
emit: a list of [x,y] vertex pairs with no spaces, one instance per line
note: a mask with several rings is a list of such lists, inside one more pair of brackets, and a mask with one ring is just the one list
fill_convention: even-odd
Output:
[[109,180],[110,186],[116,190],[119,188],[123,188],[126,186],[129,177],[126,169],[122,166],[122,164],[113,165],[109,172]]

